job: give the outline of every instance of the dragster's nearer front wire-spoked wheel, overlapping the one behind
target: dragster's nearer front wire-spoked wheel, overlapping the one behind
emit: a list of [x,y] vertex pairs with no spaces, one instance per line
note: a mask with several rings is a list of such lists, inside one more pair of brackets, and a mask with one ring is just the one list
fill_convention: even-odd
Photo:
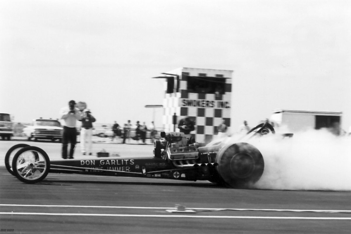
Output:
[[15,154],[12,169],[20,181],[27,184],[38,183],[49,173],[50,159],[39,147],[28,146]]

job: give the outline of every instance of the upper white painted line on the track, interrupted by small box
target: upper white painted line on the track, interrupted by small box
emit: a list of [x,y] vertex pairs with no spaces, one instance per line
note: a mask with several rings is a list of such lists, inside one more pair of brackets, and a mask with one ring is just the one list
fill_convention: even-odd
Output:
[[[174,209],[174,207],[143,207],[143,206],[74,206],[74,205],[23,205],[0,204],[0,206],[19,207],[76,207],[76,208],[117,208],[117,209]],[[317,209],[243,209],[243,208],[188,208],[198,211],[276,211],[276,212],[316,212],[316,213],[351,213],[351,210],[317,210]]]

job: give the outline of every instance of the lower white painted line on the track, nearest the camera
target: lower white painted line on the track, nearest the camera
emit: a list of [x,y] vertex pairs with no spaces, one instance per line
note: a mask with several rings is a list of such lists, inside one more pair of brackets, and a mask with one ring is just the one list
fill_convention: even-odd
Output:
[[0,212],[8,215],[57,215],[57,216],[114,216],[114,217],[153,217],[153,218],[220,218],[220,219],[314,219],[314,220],[351,220],[336,217],[276,217],[276,216],[214,216],[214,215],[156,215],[156,214],[82,214],[82,213],[25,213]]

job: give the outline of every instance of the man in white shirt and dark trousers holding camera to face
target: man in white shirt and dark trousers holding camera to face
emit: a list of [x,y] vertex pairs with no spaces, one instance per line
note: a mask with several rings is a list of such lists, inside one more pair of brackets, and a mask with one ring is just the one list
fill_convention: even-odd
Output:
[[69,158],[73,158],[75,144],[77,143],[77,130],[75,125],[77,119],[80,120],[81,116],[79,109],[75,108],[75,101],[71,100],[68,102],[68,106],[65,106],[60,110],[61,119],[64,120],[62,124],[64,129],[62,132],[62,158],[67,159],[67,148],[68,143],[71,143],[69,150]]

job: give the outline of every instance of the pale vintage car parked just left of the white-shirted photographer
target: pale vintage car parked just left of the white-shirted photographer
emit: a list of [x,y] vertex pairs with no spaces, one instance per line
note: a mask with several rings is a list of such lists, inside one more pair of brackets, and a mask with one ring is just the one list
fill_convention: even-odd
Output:
[[50,139],[52,141],[62,139],[62,127],[58,120],[54,119],[34,119],[33,125],[23,129],[28,140]]

